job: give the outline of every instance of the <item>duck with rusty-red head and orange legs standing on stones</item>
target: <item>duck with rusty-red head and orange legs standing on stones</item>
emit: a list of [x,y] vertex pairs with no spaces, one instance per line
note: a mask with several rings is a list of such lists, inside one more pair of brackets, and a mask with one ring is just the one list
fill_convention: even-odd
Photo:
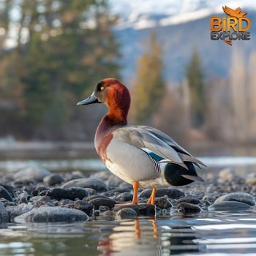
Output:
[[94,103],[108,107],[94,137],[97,154],[111,173],[133,187],[132,202],[122,205],[138,205],[139,188],[152,189],[147,204],[154,204],[157,188],[204,181],[195,166],[206,165],[175,140],[159,129],[128,124],[131,97],[123,83],[105,78],[97,83],[91,96],[77,105]]

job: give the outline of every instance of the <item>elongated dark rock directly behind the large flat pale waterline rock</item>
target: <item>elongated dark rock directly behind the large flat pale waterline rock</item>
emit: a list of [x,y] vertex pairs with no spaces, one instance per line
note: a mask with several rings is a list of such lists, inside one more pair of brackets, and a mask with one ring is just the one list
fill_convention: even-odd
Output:
[[83,199],[89,196],[89,192],[81,187],[70,187],[69,189],[63,189],[60,187],[51,189],[46,193],[46,195],[55,198],[56,200],[61,199]]

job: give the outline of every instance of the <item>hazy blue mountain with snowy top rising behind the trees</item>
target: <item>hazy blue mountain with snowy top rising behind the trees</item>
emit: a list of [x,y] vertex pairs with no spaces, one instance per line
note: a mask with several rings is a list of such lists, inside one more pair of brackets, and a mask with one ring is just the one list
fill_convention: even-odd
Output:
[[[186,2],[190,2],[190,0]],[[225,44],[225,42],[212,41],[210,39],[210,16],[212,12],[215,13],[215,15],[224,15],[224,13],[219,11],[219,14],[216,14],[216,8],[213,8],[211,11],[209,10],[209,7],[206,6],[206,2],[210,3],[213,1],[197,0],[193,2],[196,2],[197,5],[195,4],[195,6],[191,8],[192,12],[189,12],[190,14],[187,15],[187,19],[185,19],[186,15],[184,15],[182,11],[176,12],[175,15],[170,15],[170,10],[168,11],[167,7],[162,11],[148,11],[148,13],[144,14],[137,11],[134,14],[133,22],[131,22],[132,18],[130,18],[132,14],[121,16],[122,20],[127,20],[127,23],[120,22],[116,26],[115,33],[119,42],[121,42],[121,54],[123,56],[121,61],[123,67],[122,75],[126,83],[135,80],[136,61],[138,57],[145,52],[145,45],[153,30],[157,33],[159,42],[161,42],[162,45],[162,56],[165,62],[165,78],[168,82],[181,82],[184,78],[184,69],[194,48],[200,55],[206,77],[210,78],[227,78],[229,75],[230,61],[232,61],[231,56],[234,50],[241,50],[245,61],[248,59],[249,54],[253,50],[256,50],[255,4],[252,5],[252,8],[242,8],[243,11],[248,12],[247,17],[252,21],[252,26],[249,29],[251,39],[249,41],[233,41],[233,46],[230,46]],[[223,3],[223,1],[216,2]],[[202,6],[202,3],[205,4],[204,7],[197,8],[198,6]],[[246,1],[246,3],[249,5],[249,1]],[[233,7],[233,5],[234,4],[230,4],[230,7]],[[242,6],[241,4],[241,7]],[[237,4],[233,8],[236,7],[238,7]],[[140,8],[140,10],[142,9],[143,7]],[[126,8],[126,11],[129,13],[131,10]],[[144,20],[144,26],[141,26],[141,20]],[[138,26],[138,24],[140,24],[140,26]]]

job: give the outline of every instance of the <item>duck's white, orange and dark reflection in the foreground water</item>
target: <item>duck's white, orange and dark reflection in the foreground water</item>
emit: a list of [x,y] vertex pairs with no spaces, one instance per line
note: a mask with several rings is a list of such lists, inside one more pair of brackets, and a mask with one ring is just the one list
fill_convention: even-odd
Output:
[[195,231],[190,226],[158,226],[156,219],[119,222],[99,239],[97,249],[109,255],[178,255],[199,252]]

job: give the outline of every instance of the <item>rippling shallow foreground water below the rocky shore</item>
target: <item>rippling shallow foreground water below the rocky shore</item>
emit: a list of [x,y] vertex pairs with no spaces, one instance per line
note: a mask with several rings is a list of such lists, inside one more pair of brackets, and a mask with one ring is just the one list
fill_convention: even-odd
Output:
[[1,227],[0,255],[255,255],[255,211]]

